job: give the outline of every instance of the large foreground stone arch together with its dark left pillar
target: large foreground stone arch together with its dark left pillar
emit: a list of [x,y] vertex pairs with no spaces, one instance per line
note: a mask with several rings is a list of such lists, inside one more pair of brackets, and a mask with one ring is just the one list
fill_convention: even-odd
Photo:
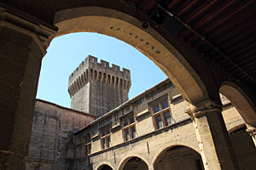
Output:
[[[169,39],[167,41],[159,31],[150,27],[143,29],[143,22],[138,20],[138,17],[117,10],[94,6],[73,8],[64,5],[64,7],[68,9],[55,14],[55,26],[60,29],[59,36],[75,31],[95,31],[119,38],[152,59],[190,104],[197,105],[212,96],[213,99],[218,96],[218,88],[206,62],[200,59],[195,51],[190,52],[189,47],[177,37],[166,35]],[[46,53],[55,28],[49,23],[44,25],[38,20],[29,18],[24,13],[12,13],[9,9],[6,11],[4,9],[2,14],[4,14],[3,28],[0,30],[3,33],[1,41],[4,43],[1,52],[4,56],[2,62],[4,66],[1,76],[4,83],[1,87],[4,90],[2,100],[5,105],[1,109],[6,116],[1,127],[4,129],[2,148],[8,150],[4,152],[7,156],[4,156],[3,160],[10,157],[8,162],[18,162],[12,166],[13,169],[14,167],[22,169],[32,127],[32,111],[41,59]],[[13,50],[14,48],[17,50]],[[14,158],[16,159],[13,155],[19,156],[19,161],[13,161]]]

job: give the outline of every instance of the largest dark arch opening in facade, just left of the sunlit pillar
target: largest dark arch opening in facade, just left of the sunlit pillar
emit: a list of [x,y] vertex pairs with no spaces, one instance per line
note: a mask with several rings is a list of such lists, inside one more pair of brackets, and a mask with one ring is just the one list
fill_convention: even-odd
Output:
[[203,170],[203,163],[201,155],[186,146],[175,145],[160,152],[154,161],[155,170],[168,170],[168,169],[179,169],[179,170]]

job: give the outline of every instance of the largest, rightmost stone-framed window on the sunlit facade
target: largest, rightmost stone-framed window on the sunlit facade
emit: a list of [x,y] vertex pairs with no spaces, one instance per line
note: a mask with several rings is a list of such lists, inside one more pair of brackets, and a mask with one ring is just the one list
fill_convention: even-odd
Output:
[[154,119],[154,128],[160,129],[172,124],[172,115],[168,99],[161,99],[151,107]]

